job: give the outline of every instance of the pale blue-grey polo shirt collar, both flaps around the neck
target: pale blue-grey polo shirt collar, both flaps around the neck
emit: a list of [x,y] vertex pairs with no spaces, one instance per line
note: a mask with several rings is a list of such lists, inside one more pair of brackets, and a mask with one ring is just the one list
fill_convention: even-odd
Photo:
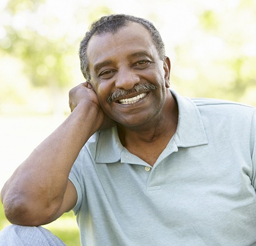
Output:
[[[179,108],[178,127],[173,137],[176,146],[192,147],[207,144],[202,118],[195,103],[175,91],[171,90],[171,93]],[[116,127],[100,131],[96,148],[96,163],[118,162],[124,150]]]

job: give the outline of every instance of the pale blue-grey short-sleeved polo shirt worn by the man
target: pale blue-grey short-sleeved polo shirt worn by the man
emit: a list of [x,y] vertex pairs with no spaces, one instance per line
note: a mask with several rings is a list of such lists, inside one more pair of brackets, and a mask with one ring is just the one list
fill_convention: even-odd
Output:
[[256,245],[255,108],[172,91],[178,128],[153,168],[116,128],[89,139],[70,172],[81,245]]

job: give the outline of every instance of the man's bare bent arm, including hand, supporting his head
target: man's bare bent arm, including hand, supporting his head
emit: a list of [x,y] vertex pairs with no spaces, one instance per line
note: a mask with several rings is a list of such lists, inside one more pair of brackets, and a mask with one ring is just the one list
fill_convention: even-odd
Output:
[[70,107],[65,122],[15,170],[1,191],[6,217],[13,224],[47,224],[76,203],[76,190],[68,180],[74,160],[94,132],[113,123],[88,83],[70,91]]

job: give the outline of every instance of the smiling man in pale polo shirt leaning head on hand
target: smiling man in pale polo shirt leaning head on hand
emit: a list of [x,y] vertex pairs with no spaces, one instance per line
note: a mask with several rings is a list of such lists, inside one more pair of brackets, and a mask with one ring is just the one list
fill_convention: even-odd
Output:
[[52,240],[34,226],[73,209],[81,245],[256,245],[255,108],[171,91],[144,19],[93,23],[80,60],[72,114],[2,189],[7,219],[30,226],[5,239]]

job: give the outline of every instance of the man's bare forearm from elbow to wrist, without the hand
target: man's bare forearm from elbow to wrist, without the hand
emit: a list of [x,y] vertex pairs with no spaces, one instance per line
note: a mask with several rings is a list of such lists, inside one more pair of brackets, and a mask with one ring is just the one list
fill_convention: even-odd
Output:
[[[82,146],[97,130],[93,107],[78,106],[17,168],[6,182],[1,198],[8,219],[23,224],[25,218],[53,216],[62,204],[68,175]],[[34,222],[37,224],[37,222]]]

